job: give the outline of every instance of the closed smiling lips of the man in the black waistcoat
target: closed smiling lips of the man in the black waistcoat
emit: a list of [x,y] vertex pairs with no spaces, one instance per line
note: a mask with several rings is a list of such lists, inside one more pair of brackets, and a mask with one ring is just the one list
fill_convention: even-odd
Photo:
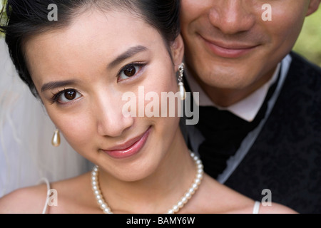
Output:
[[209,41],[203,36],[200,36],[201,40],[205,43],[210,51],[212,51],[216,56],[223,58],[239,58],[245,54],[253,51],[258,45],[247,45],[243,43],[221,43],[218,41]]

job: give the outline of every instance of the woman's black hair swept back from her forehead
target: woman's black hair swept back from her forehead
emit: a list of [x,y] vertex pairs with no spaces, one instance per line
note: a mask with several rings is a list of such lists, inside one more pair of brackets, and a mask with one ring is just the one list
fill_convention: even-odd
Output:
[[[50,4],[57,6],[57,21],[48,19]],[[28,71],[24,42],[36,34],[68,26],[75,16],[91,7],[101,10],[116,7],[135,14],[158,30],[167,48],[180,32],[180,0],[7,0],[1,10],[0,30],[6,34],[6,44],[20,78],[36,97],[38,93]]]

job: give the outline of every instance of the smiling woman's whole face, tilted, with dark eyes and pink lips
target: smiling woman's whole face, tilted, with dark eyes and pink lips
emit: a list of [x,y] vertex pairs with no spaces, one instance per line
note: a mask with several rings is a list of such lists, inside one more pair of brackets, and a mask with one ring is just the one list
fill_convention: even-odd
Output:
[[91,11],[30,38],[25,51],[40,98],[69,144],[112,175],[136,180],[156,169],[178,132],[177,113],[164,115],[161,93],[178,92],[182,46],[179,36],[166,48],[155,28],[128,12]]

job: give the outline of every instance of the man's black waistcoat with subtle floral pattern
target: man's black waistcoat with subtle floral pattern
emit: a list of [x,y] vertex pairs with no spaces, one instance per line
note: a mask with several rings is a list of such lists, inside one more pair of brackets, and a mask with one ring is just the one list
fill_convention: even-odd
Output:
[[258,201],[267,189],[272,202],[321,213],[321,68],[291,56],[269,118],[225,185]]

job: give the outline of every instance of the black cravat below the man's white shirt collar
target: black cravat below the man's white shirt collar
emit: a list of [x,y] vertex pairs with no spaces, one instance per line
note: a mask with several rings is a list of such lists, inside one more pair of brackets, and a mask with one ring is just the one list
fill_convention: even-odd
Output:
[[[198,147],[198,152],[208,175],[214,178],[218,177],[225,170],[226,162],[230,156],[235,155],[246,135],[265,118],[267,103],[275,92],[279,78],[280,74],[277,81],[268,90],[264,103],[252,122],[243,120],[228,110],[218,110],[212,106],[199,107],[200,119],[196,127],[203,134],[205,140]],[[190,91],[188,86],[185,87]]]

